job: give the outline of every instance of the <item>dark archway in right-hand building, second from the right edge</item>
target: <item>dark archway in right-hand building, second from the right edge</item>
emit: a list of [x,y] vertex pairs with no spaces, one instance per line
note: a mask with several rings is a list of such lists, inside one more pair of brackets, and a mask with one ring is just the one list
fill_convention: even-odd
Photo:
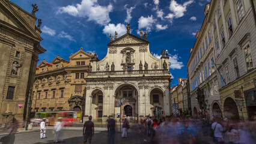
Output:
[[224,101],[224,116],[228,119],[239,119],[239,112],[234,100],[230,97]]

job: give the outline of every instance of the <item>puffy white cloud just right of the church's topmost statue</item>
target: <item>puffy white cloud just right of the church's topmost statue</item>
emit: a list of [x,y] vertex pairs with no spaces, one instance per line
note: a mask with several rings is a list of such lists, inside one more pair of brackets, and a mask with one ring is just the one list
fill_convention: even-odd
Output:
[[141,16],[138,20],[139,29],[146,29],[147,32],[150,32],[153,28],[153,23],[156,22],[156,19],[153,18],[153,16],[144,17]]

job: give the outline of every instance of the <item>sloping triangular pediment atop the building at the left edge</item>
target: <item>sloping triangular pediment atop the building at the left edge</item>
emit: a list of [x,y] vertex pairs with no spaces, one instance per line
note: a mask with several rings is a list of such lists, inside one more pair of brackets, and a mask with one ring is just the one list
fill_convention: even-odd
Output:
[[8,19],[8,21],[5,21],[4,19],[0,19],[0,22],[4,23],[7,26],[10,26],[10,28],[13,28],[16,31],[19,31],[22,34],[25,34],[27,37],[31,37],[39,41],[43,40],[43,38],[41,38],[40,35],[38,35],[37,32],[35,32],[35,28],[32,28],[26,22],[26,20],[24,20],[22,16],[20,16],[20,14],[16,10],[14,10],[13,7],[11,7],[9,2],[10,1],[0,1],[1,12],[4,11],[5,18]]

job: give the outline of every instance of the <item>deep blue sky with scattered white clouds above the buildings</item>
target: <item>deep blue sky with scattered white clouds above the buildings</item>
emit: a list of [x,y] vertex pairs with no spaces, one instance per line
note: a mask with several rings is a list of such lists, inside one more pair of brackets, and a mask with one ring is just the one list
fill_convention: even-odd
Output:
[[186,78],[189,50],[194,46],[195,34],[204,20],[204,7],[210,0],[11,0],[42,20],[41,46],[47,52],[40,62],[52,61],[57,55],[69,60],[71,53],[83,47],[85,52],[96,52],[99,59],[107,53],[109,34],[118,37],[126,33],[147,32],[150,51],[159,57],[162,49],[169,51],[170,72],[178,84],[178,77]]

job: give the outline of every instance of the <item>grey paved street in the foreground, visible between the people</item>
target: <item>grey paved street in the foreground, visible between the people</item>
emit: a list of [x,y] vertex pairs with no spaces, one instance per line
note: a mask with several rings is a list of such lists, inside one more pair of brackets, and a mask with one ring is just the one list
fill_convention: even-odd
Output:
[[[17,133],[15,135],[0,136],[0,143],[53,143],[53,134],[52,130],[46,131],[47,139],[40,139],[39,131],[30,131],[28,133]],[[82,131],[81,130],[63,130],[63,137],[64,142],[62,143],[82,143]],[[107,132],[106,131],[96,131],[93,137],[92,143],[106,143],[107,142]],[[150,144],[151,142],[142,142],[141,137],[135,133],[129,133],[127,139],[121,138],[121,133],[116,133],[115,136],[115,143],[122,143],[122,144],[136,144],[136,143],[143,143],[143,144]],[[201,140],[200,143],[207,144],[209,143],[209,139]]]

